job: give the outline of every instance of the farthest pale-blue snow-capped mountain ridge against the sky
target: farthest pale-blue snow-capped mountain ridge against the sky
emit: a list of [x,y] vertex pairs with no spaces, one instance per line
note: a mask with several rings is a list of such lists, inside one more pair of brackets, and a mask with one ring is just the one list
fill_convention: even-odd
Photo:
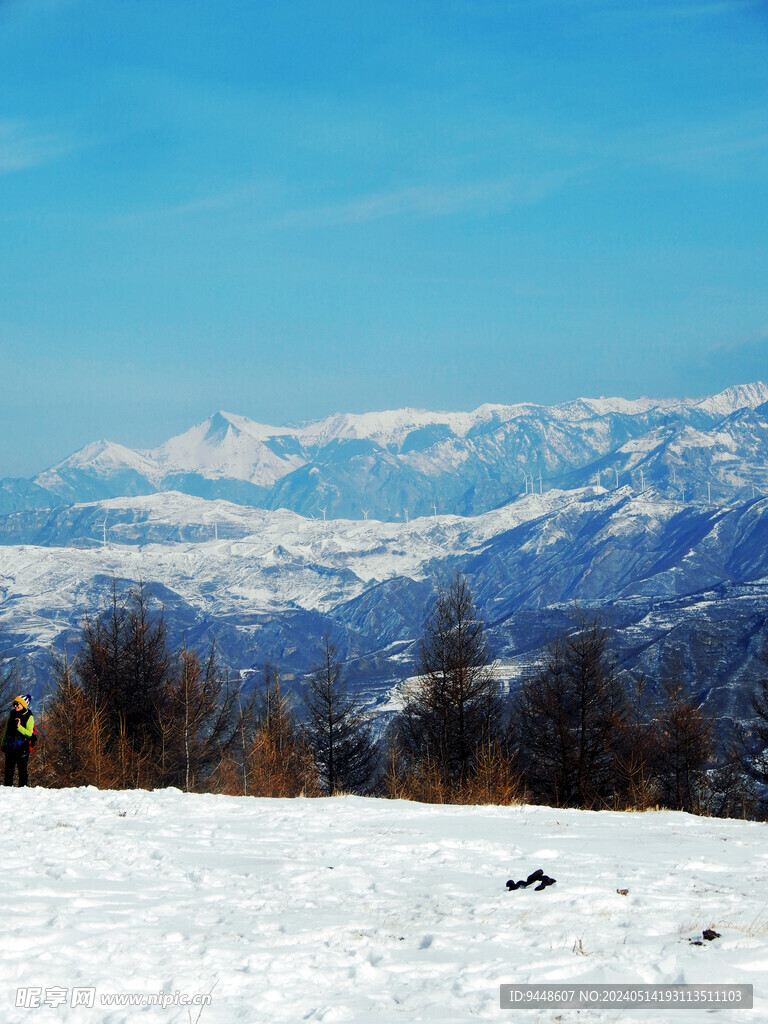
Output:
[[218,412],[157,449],[96,441],[32,480],[2,480],[0,513],[179,490],[394,521],[478,515],[529,490],[590,483],[718,502],[768,489],[768,385],[703,399],[339,414],[296,427]]

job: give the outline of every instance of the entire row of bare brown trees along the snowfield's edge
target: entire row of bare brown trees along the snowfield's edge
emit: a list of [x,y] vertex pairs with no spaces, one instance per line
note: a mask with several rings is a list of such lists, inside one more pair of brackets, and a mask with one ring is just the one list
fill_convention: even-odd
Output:
[[144,587],[121,595],[113,583],[73,658],[54,657],[35,781],[765,817],[768,648],[763,666],[753,720],[724,733],[691,696],[679,658],[653,681],[620,672],[607,626],[579,614],[508,693],[457,575],[427,615],[396,712],[376,718],[330,637],[302,700],[288,698],[270,663],[246,695],[215,645],[172,651]]

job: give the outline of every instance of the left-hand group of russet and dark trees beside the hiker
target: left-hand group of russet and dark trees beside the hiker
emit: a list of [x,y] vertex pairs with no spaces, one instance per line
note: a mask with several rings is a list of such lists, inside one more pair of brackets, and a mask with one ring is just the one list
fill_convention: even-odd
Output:
[[[368,792],[378,763],[372,726],[346,692],[326,639],[299,716],[267,663],[246,695],[212,644],[171,650],[143,585],[86,615],[74,656],[53,655],[39,716],[35,781],[99,788],[177,786],[268,797]],[[12,688],[11,675],[0,679]]]

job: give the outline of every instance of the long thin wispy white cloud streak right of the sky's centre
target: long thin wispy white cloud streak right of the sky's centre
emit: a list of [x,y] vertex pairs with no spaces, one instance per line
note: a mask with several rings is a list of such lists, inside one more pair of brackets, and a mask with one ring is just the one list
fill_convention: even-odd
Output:
[[512,206],[538,203],[562,187],[572,176],[569,172],[559,172],[464,184],[408,185],[313,209],[297,210],[286,215],[284,224],[289,227],[331,227],[364,224],[387,217],[430,218],[465,213],[482,216]]

